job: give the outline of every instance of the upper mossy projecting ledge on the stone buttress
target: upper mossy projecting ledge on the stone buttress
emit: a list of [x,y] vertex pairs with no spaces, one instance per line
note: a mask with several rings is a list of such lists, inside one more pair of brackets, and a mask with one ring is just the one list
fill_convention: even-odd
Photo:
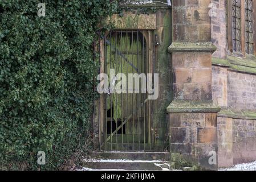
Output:
[[168,47],[168,52],[211,52],[216,51],[217,47],[211,42],[190,43],[190,42],[173,42]]

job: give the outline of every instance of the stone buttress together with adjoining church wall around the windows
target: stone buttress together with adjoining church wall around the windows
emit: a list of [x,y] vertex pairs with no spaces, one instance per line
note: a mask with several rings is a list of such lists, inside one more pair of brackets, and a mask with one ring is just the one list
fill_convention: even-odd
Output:
[[173,1],[170,149],[201,166],[210,150],[218,167],[256,160],[256,59],[228,51],[226,13],[225,0]]

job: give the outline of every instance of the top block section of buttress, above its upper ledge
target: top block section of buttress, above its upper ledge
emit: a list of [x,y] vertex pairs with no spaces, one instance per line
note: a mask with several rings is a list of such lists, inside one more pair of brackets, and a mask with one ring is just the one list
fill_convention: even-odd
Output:
[[177,42],[210,40],[210,0],[173,1],[173,39]]

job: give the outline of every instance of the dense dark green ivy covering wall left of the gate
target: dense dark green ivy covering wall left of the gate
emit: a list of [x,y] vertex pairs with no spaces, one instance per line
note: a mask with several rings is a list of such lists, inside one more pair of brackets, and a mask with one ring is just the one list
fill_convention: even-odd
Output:
[[[46,16],[38,16],[38,3]],[[0,169],[59,169],[90,133],[100,21],[116,0],[0,0]],[[46,152],[46,165],[36,163]]]

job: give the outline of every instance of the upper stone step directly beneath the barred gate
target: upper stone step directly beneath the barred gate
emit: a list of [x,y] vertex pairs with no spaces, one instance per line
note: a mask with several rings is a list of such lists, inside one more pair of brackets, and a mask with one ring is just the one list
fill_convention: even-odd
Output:
[[91,158],[128,159],[128,160],[162,160],[170,161],[169,152],[119,152],[119,151],[93,151]]

